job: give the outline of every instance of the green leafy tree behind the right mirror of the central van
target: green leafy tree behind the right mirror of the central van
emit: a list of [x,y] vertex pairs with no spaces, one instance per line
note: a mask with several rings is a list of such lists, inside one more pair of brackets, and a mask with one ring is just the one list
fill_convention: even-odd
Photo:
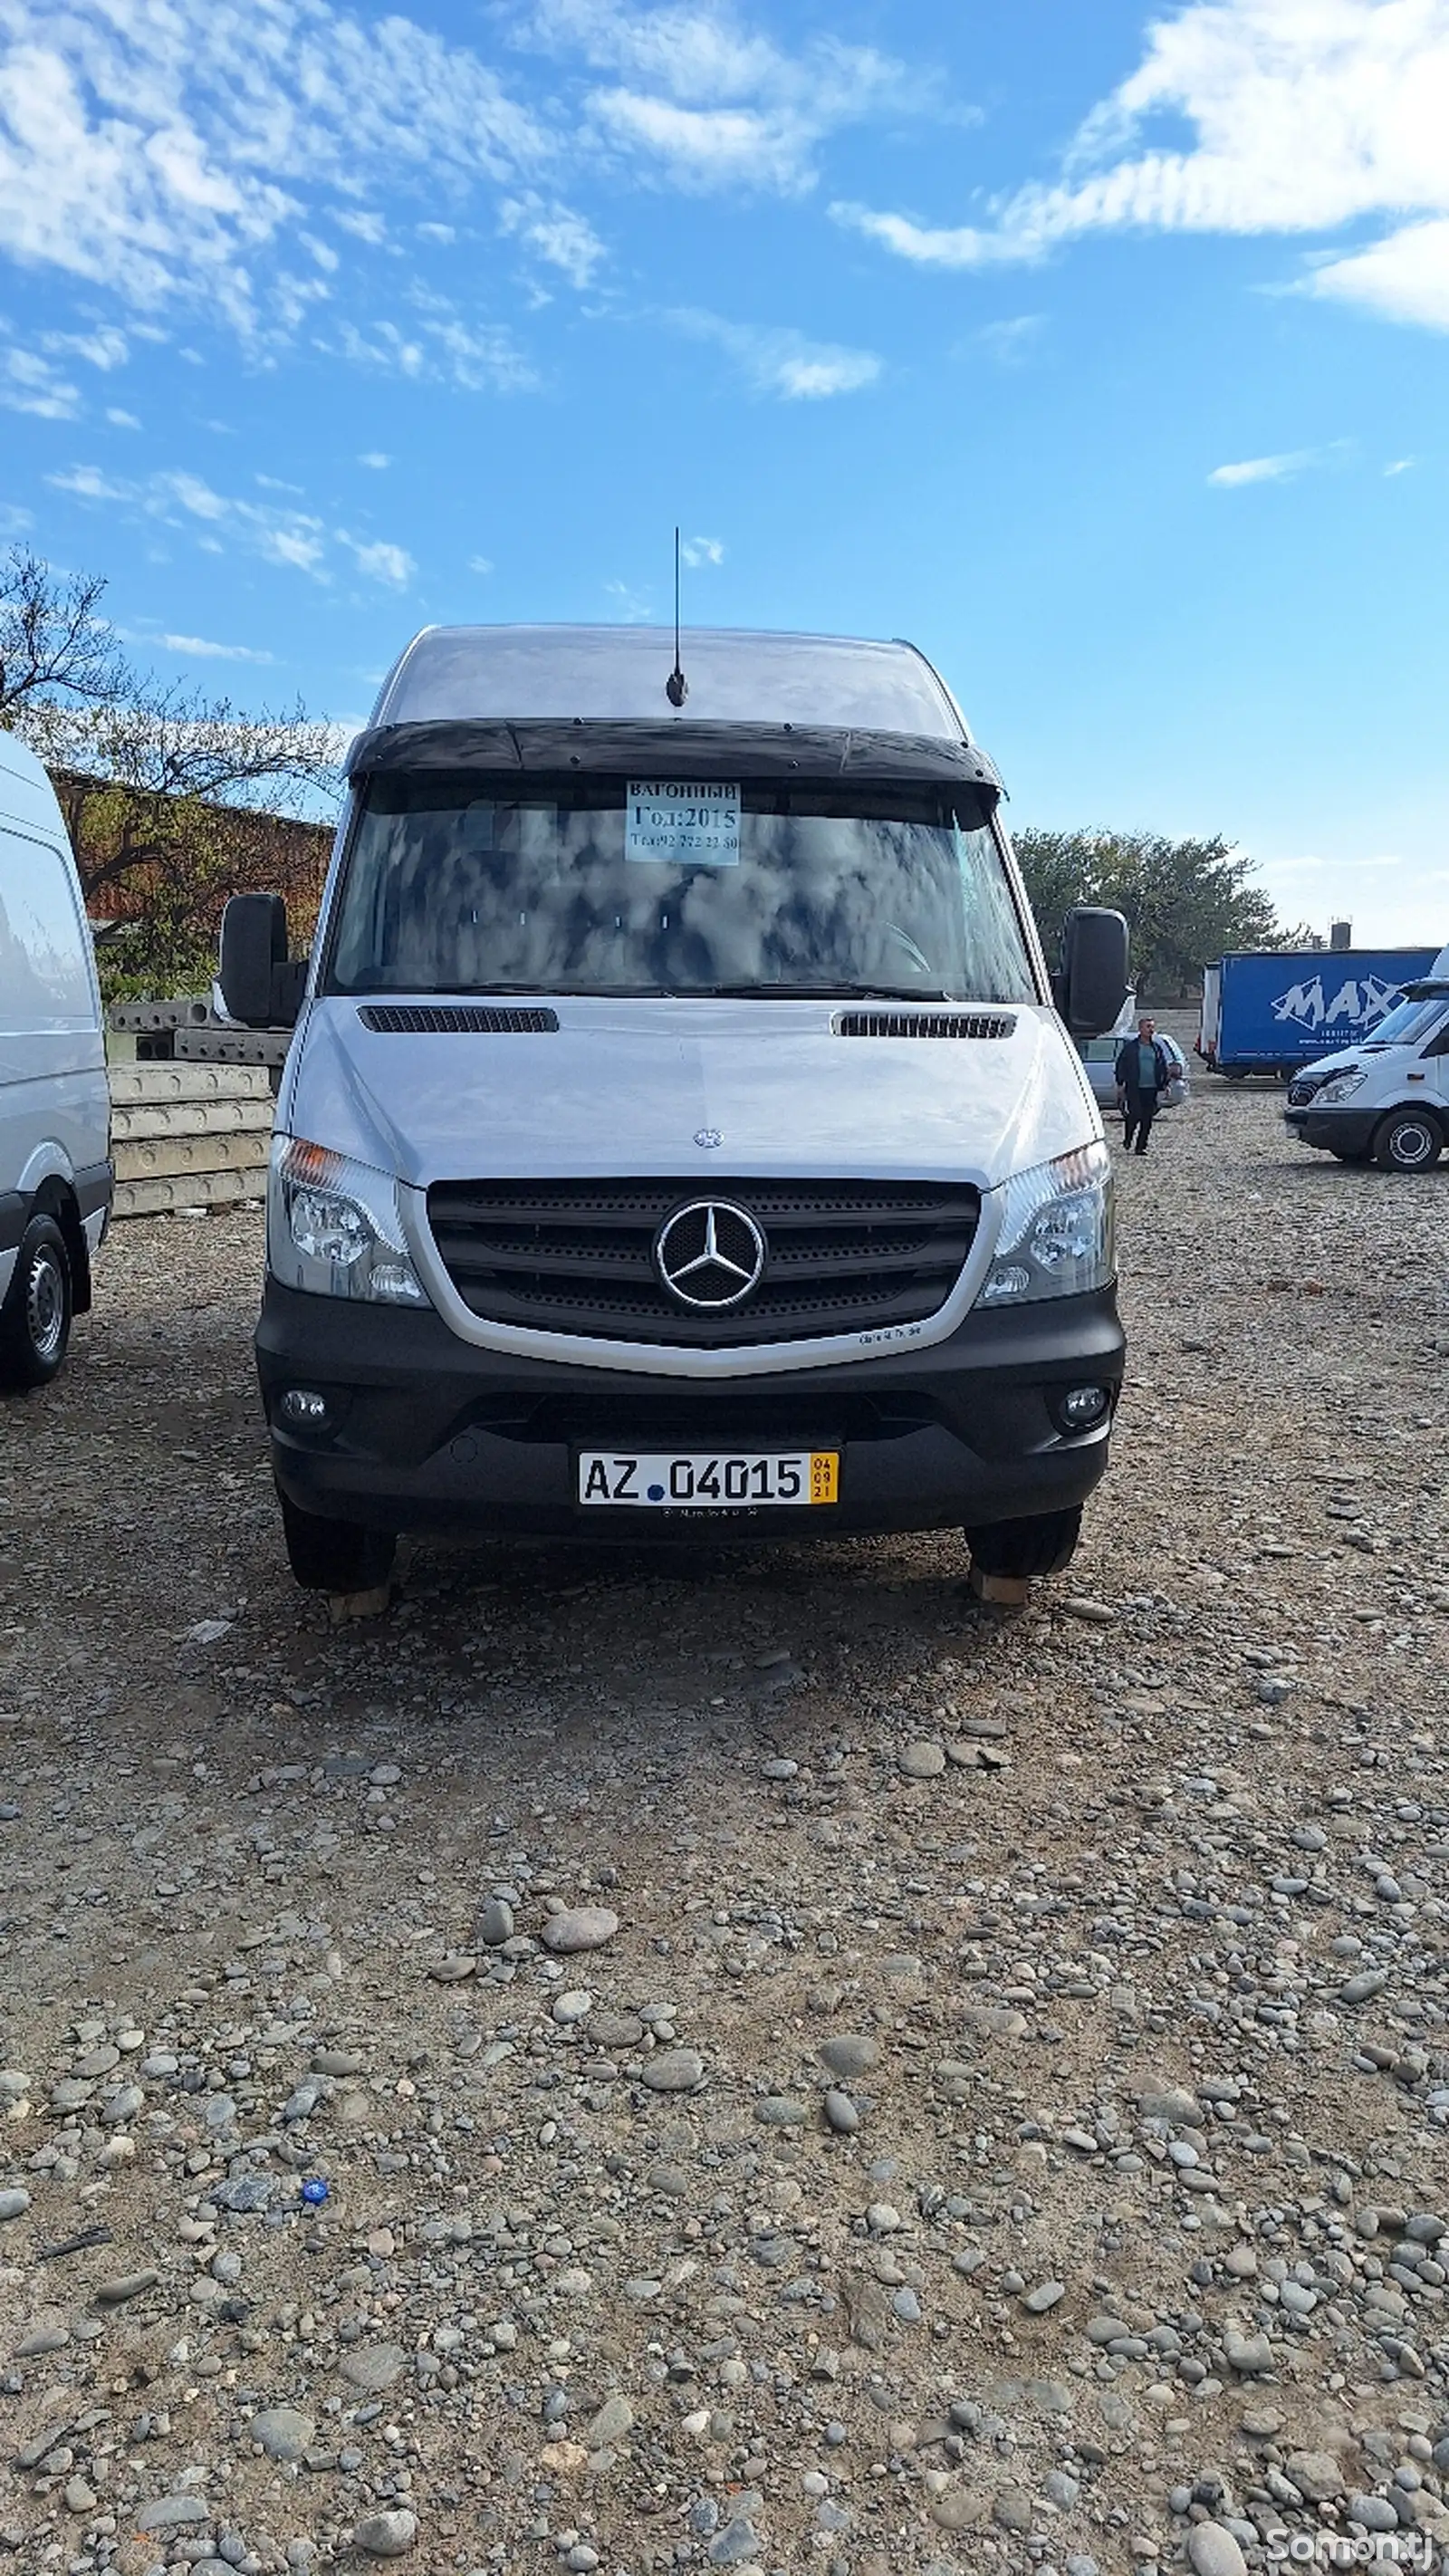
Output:
[[1184,999],[1228,948],[1284,943],[1253,860],[1220,835],[1022,832],[1017,858],[1048,956],[1073,904],[1112,904],[1127,917],[1135,987],[1156,999]]

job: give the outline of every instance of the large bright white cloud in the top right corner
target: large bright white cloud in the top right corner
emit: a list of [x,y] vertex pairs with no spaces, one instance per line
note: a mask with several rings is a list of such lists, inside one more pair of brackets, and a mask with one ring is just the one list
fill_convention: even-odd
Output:
[[[1186,147],[1171,129],[1192,129]],[[937,268],[1035,260],[1091,232],[1310,234],[1380,222],[1300,278],[1449,330],[1449,0],[1189,0],[1086,118],[1063,178],[981,224],[839,204],[836,222]]]

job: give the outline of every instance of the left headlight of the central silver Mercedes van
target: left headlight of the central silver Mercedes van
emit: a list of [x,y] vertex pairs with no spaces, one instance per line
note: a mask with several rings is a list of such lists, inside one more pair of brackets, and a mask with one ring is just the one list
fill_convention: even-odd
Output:
[[273,1139],[268,1270],[311,1296],[430,1303],[407,1249],[396,1180],[301,1136]]

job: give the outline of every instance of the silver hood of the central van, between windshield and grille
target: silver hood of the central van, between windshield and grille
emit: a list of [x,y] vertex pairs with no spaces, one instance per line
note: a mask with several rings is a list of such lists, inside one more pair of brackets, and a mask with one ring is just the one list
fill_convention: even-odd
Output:
[[[991,1190],[1102,1136],[1081,1059],[1045,1005],[981,1005],[1011,1023],[1004,1038],[842,1038],[854,1005],[824,999],[558,997],[558,1028],[528,1036],[394,1036],[365,1028],[363,1007],[340,997],[306,1007],[278,1131],[420,1190],[795,1172]],[[945,1005],[898,1010],[929,1020]]]

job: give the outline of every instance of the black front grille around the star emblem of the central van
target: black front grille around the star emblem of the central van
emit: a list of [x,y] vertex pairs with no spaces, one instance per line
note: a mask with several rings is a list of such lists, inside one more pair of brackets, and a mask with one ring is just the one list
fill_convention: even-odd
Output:
[[[764,1236],[759,1285],[692,1311],[664,1288],[654,1244],[700,1200],[744,1208]],[[438,1255],[489,1324],[613,1342],[734,1350],[919,1324],[955,1288],[978,1193],[932,1180],[448,1180],[427,1193]]]

